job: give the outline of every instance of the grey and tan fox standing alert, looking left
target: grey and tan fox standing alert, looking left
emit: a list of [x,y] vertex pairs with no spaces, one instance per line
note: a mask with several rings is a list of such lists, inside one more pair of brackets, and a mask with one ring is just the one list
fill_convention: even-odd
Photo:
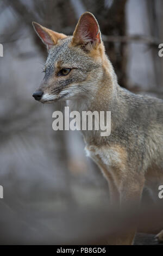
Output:
[[[131,202],[139,205],[146,187],[157,201],[163,185],[163,100],[131,93],[118,84],[93,14],[80,16],[71,36],[36,22],[33,27],[48,51],[45,76],[34,99],[66,101],[79,113],[110,111],[109,136],[82,131],[86,155],[108,181],[110,202],[120,208]],[[135,233],[136,226],[117,234],[111,244],[133,245]],[[163,230],[156,237],[163,241]]]

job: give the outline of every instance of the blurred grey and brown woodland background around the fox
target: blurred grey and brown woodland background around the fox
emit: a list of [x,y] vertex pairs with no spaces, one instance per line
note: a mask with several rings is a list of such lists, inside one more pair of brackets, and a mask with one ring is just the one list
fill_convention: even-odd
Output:
[[119,84],[163,98],[162,10],[162,0],[1,0],[0,244],[82,244],[108,232],[108,184],[82,135],[53,131],[52,113],[64,105],[32,97],[47,57],[32,21],[69,35],[90,11]]

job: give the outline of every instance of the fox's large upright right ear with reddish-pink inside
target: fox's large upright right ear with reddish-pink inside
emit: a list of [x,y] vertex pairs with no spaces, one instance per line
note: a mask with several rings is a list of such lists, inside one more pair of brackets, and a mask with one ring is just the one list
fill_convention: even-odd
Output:
[[75,31],[73,32],[72,44],[82,45],[86,50],[96,48],[101,43],[101,32],[98,22],[93,14],[86,11],[80,16]]

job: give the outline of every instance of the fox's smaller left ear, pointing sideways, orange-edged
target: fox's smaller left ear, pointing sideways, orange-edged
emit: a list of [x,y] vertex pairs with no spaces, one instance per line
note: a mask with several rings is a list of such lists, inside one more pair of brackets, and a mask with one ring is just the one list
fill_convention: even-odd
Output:
[[45,28],[41,26],[39,23],[32,22],[35,32],[41,38],[42,42],[46,44],[47,49],[51,48],[52,46],[56,45],[58,39],[64,39],[67,36],[61,33],[57,33],[52,31],[51,29]]

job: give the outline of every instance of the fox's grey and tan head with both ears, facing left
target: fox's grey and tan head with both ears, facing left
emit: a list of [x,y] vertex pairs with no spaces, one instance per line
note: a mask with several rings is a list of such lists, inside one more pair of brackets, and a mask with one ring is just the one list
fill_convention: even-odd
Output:
[[45,77],[33,94],[35,100],[45,103],[95,95],[108,64],[96,18],[84,13],[72,36],[36,22],[33,26],[48,50]]

